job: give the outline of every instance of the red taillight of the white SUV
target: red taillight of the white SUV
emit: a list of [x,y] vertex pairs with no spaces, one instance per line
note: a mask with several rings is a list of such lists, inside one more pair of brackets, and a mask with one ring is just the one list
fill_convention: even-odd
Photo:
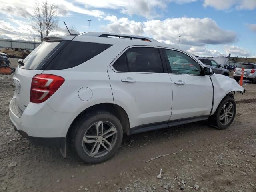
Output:
[[42,103],[46,101],[60,86],[65,79],[51,74],[38,74],[32,78],[30,89],[30,102]]

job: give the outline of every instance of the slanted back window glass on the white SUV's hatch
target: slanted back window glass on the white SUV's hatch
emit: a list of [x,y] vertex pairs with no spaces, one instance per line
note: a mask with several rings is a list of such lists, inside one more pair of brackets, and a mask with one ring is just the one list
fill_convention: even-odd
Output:
[[46,56],[58,45],[60,42],[43,42],[36,49],[34,49],[24,60],[23,69],[35,70]]

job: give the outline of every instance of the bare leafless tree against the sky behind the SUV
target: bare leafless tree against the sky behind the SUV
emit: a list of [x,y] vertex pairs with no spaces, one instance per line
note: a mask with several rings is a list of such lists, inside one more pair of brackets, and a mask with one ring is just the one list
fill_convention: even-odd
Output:
[[31,27],[42,42],[43,37],[48,36],[58,27],[58,6],[49,4],[47,0],[42,4],[36,2],[30,17],[32,20]]

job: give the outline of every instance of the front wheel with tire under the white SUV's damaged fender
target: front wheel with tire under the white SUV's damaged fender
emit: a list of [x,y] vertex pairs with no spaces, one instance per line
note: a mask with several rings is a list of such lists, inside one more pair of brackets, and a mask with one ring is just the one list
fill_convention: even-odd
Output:
[[[232,104],[232,108],[230,109],[230,112],[228,112],[229,116],[227,117],[228,119],[226,120],[226,115],[224,114],[224,108],[225,108],[224,105],[226,105],[226,109],[228,110],[229,106],[231,106],[230,104]],[[232,113],[232,117],[230,117],[230,113]],[[221,120],[223,116],[224,116],[224,119]],[[226,96],[220,102],[218,108],[216,109],[216,112],[212,116],[210,116],[209,123],[215,128],[226,129],[233,122],[235,116],[236,116],[236,102],[234,98],[230,96]]]

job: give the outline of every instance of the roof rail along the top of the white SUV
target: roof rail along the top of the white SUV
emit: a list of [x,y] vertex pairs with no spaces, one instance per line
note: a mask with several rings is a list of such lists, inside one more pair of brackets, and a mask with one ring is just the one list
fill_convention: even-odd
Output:
[[136,36],[136,35],[126,35],[117,33],[106,33],[106,32],[84,32],[79,34],[79,36],[94,36],[94,37],[109,37],[109,38],[128,38],[131,40],[142,40],[150,42],[158,42],[157,40],[149,37]]

